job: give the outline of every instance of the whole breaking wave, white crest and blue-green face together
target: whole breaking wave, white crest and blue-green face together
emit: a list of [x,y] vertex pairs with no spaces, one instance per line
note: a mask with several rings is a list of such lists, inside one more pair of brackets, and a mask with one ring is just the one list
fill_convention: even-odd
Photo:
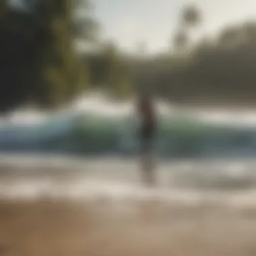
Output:
[[[0,151],[136,156],[134,102],[89,94],[57,113],[17,110],[0,120]],[[156,154],[167,158],[251,156],[256,113],[181,109],[157,101]]]

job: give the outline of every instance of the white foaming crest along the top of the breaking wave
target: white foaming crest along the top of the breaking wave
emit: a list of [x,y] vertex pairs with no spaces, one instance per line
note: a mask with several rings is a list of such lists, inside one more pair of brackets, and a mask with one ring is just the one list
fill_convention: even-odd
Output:
[[[75,113],[93,113],[112,117],[132,115],[135,101],[119,102],[100,92],[92,92],[80,96],[66,108],[57,113],[46,113],[33,108],[22,108],[0,118],[0,124],[33,125],[46,121],[56,115]],[[180,108],[162,100],[156,100],[156,108],[160,115],[184,115],[207,123],[230,124],[236,126],[256,126],[256,110],[228,110],[213,108]]]

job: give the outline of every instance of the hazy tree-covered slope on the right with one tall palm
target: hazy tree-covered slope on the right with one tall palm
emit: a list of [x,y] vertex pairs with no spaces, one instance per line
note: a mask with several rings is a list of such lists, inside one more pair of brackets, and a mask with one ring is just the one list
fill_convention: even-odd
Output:
[[185,7],[172,50],[133,69],[133,82],[179,104],[255,105],[256,21],[227,26],[193,44],[190,35],[200,26],[203,13]]

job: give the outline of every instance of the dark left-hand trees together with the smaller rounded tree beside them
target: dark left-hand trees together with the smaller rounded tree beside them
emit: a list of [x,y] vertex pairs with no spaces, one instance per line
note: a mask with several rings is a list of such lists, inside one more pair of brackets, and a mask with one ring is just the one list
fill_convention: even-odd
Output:
[[[87,0],[23,0],[23,8],[0,1],[0,111],[32,104],[57,108],[93,84],[124,79],[115,47],[98,42],[100,25]],[[77,42],[100,45],[81,54]]]

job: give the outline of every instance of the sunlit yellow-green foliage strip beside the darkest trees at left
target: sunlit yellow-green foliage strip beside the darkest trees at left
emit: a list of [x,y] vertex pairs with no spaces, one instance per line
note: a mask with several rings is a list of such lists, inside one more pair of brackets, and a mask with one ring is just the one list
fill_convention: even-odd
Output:
[[[44,1],[38,7],[43,13],[40,22],[49,40],[42,48],[42,81],[49,87],[49,106],[64,104],[81,91],[86,83],[84,70],[79,67],[79,59],[73,49],[72,9],[69,0]],[[84,81],[82,81],[84,79]],[[47,100],[49,102],[49,100]]]

